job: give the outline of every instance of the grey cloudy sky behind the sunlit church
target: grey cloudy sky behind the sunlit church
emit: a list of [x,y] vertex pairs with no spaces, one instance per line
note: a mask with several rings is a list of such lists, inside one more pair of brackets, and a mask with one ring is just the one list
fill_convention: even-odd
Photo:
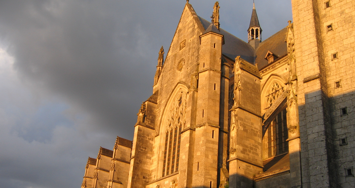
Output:
[[[1,77],[0,184],[78,187],[98,146],[112,149],[117,135],[132,140],[158,51],[168,51],[185,3],[0,0],[0,47],[20,77]],[[252,1],[219,3],[221,27],[246,40]],[[190,4],[210,20],[214,1]],[[291,20],[288,1],[257,0],[256,9],[263,39]]]

